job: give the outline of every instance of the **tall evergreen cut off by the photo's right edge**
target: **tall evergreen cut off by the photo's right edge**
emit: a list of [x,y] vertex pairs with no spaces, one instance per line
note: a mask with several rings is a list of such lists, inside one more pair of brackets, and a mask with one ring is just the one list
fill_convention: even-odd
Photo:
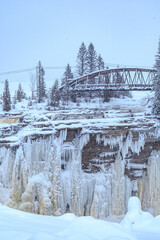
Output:
[[153,104],[153,113],[155,115],[160,114],[160,39],[158,43],[158,51],[156,54],[155,65],[156,75],[154,77],[154,91],[155,91],[155,99]]

